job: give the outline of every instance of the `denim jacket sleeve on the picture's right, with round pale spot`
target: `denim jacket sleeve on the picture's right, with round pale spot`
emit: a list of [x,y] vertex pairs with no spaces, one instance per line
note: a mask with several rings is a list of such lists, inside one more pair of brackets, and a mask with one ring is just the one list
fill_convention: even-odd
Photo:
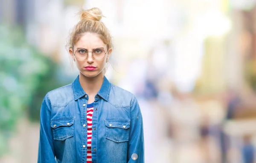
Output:
[[131,102],[131,124],[128,141],[128,163],[144,163],[143,120],[136,97]]

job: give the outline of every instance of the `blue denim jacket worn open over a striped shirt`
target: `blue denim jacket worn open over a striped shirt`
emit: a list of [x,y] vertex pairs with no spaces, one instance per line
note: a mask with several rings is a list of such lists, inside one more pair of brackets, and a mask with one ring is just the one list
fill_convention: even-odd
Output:
[[[47,93],[41,106],[38,163],[86,163],[87,101],[79,76]],[[144,163],[143,120],[132,93],[104,77],[92,123],[93,163]]]

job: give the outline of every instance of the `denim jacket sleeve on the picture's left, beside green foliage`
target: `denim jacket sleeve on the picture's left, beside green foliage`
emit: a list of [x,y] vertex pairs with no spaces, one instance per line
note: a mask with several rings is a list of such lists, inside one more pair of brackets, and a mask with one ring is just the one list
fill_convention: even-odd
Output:
[[38,163],[56,163],[52,129],[50,126],[51,105],[47,95],[44,97],[40,111]]

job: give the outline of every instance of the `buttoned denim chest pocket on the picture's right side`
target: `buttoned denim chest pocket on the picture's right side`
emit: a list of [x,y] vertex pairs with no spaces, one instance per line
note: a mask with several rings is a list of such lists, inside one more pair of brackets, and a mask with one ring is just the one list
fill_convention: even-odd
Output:
[[108,119],[105,120],[106,138],[116,143],[129,140],[130,120]]

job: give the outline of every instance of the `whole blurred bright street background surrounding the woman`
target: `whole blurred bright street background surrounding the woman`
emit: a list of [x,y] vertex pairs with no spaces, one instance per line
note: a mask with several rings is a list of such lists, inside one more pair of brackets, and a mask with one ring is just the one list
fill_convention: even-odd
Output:
[[0,163],[37,162],[42,100],[79,74],[65,45],[92,7],[145,163],[256,163],[256,0],[0,0]]

